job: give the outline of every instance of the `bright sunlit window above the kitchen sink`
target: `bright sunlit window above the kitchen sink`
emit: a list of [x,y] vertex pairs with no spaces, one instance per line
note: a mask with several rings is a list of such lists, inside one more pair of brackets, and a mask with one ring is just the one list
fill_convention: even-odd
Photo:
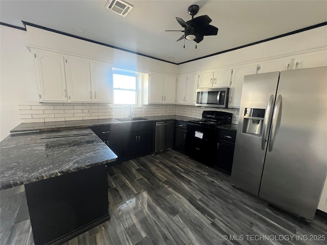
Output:
[[138,75],[125,71],[113,71],[113,104],[137,105]]

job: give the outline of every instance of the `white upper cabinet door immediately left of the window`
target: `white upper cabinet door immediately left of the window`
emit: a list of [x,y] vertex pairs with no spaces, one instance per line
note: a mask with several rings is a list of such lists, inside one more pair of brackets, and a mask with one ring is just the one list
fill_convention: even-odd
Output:
[[112,103],[112,74],[109,63],[91,62],[92,101]]

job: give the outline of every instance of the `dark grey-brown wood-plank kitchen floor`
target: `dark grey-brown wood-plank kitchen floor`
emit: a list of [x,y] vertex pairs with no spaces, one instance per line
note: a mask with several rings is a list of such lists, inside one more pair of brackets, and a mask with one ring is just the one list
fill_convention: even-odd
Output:
[[[34,244],[24,186],[0,194],[0,244]],[[306,223],[173,150],[108,167],[108,198],[111,219],[65,245],[327,244],[327,219]]]

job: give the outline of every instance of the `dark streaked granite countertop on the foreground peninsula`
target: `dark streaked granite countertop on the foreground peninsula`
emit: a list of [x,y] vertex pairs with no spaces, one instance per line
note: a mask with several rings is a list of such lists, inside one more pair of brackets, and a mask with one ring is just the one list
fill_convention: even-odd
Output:
[[8,136],[1,141],[0,150],[0,190],[117,158],[90,129]]

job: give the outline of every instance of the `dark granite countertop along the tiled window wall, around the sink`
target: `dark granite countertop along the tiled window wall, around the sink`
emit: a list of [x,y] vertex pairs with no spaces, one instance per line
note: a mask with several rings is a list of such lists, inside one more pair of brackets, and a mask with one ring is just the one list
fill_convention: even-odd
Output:
[[[165,121],[165,120],[182,120],[190,121],[195,120],[195,117],[187,116],[143,116],[147,118],[146,121]],[[53,131],[53,130],[66,130],[66,129],[84,129],[91,126],[109,125],[109,124],[124,124],[125,122],[117,119],[94,119],[94,120],[76,120],[76,121],[51,121],[51,122],[30,122],[19,124],[12,129],[10,133],[27,132],[27,131]]]

